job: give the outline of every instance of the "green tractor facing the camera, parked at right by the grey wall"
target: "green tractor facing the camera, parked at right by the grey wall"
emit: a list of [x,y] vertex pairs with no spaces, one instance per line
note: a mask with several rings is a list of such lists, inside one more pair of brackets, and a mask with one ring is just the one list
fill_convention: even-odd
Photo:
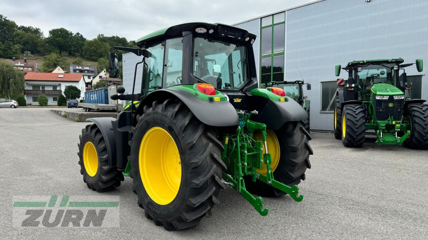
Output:
[[[413,149],[428,148],[428,105],[425,100],[412,99],[403,59],[351,61],[349,73],[338,84],[334,109],[334,136],[345,147],[361,147],[366,130],[375,130],[377,145],[404,145]],[[416,60],[422,72],[422,60]],[[401,75],[400,75],[401,72]]]

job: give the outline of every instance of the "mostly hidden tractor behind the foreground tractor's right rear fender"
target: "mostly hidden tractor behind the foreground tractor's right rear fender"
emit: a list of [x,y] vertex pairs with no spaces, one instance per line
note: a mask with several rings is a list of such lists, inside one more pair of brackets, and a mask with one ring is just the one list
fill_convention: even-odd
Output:
[[305,129],[310,132],[310,118],[311,118],[311,102],[308,100],[308,96],[303,96],[303,85],[306,84],[306,90],[311,90],[311,84],[304,83],[303,80],[296,80],[296,81],[283,81],[283,82],[276,82],[271,81],[269,83],[266,83],[265,85],[262,85],[262,88],[267,87],[279,87],[282,88],[285,91],[285,95],[293,98],[294,101],[297,101],[303,109],[308,114],[308,118],[305,120]]

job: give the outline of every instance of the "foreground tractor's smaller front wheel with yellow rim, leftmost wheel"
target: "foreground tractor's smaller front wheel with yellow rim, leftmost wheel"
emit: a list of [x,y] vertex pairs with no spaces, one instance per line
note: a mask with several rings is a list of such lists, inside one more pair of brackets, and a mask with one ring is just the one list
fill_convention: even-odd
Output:
[[124,180],[122,172],[108,165],[106,142],[96,124],[82,129],[78,144],[80,174],[83,182],[93,191],[104,192],[119,187]]

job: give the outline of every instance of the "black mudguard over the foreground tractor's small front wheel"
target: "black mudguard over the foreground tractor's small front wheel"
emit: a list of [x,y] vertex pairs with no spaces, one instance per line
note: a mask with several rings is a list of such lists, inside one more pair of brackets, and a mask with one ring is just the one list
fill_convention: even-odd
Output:
[[92,121],[100,129],[104,141],[106,142],[108,162],[110,166],[116,166],[116,140],[114,138],[112,121],[115,118],[91,118],[86,121]]

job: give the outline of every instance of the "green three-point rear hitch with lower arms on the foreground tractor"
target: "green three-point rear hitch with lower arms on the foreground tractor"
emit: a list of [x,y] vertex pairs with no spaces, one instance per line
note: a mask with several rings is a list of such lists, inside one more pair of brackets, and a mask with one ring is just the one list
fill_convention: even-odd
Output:
[[[244,176],[251,176],[253,182],[265,182],[289,194],[296,202],[302,201],[303,195],[297,197],[299,192],[297,185],[290,187],[273,178],[270,167],[272,160],[266,142],[266,125],[250,120],[251,115],[258,114],[257,111],[248,113],[246,111],[237,110],[237,113],[240,120],[238,129],[235,134],[227,134],[223,137],[225,150],[222,153],[222,160],[227,166],[227,171],[223,172],[223,180],[250,202],[262,216],[266,216],[269,209],[263,208],[262,197],[256,198],[247,191],[245,188]],[[263,142],[253,139],[253,135],[256,131],[261,131]],[[265,153],[263,153],[263,145],[265,147]],[[266,165],[266,175],[257,172],[257,169],[262,168],[263,163]]]

